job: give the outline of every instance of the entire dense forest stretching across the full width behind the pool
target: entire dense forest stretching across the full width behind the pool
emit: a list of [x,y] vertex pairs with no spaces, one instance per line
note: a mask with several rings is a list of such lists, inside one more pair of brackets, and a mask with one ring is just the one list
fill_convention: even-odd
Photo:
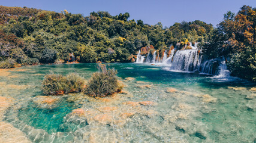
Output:
[[195,20],[170,27],[129,20],[129,13],[89,16],[0,6],[0,68],[38,63],[134,62],[141,47],[157,49],[200,42],[207,58],[225,57],[234,76],[256,80],[256,9],[228,11],[216,28]]

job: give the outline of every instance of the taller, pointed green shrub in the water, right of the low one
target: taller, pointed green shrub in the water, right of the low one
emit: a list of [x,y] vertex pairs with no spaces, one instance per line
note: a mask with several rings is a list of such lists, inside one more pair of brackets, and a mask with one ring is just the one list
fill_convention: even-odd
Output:
[[107,69],[106,65],[99,63],[95,72],[86,86],[85,93],[92,97],[106,97],[122,90],[121,83],[116,77],[115,69]]

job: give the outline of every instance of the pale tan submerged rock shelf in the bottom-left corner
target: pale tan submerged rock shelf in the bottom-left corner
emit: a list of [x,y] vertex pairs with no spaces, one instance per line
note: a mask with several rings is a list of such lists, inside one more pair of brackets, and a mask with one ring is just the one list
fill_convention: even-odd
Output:
[[31,142],[21,130],[6,122],[0,122],[0,142]]

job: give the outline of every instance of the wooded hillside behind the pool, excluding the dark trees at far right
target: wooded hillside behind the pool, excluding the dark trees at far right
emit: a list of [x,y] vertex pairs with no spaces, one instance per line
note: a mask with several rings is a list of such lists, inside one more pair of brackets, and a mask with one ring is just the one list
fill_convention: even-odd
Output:
[[71,53],[83,63],[130,62],[143,46],[161,49],[186,39],[206,42],[213,30],[212,24],[198,20],[170,28],[161,23],[151,26],[142,20],[128,20],[129,13],[112,16],[98,11],[84,17],[66,10],[56,13],[2,6],[0,11],[4,17],[1,61],[14,58],[20,64],[30,59],[40,63],[68,61]]

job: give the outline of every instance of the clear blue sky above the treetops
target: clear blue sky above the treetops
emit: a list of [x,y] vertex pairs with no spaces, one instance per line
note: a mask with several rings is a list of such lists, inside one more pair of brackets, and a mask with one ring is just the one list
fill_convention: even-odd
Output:
[[256,0],[0,0],[8,7],[32,7],[41,10],[89,15],[92,11],[109,11],[112,15],[128,12],[130,20],[147,24],[161,22],[171,26],[175,22],[201,20],[214,26],[227,11],[237,13],[242,5],[256,7]]

